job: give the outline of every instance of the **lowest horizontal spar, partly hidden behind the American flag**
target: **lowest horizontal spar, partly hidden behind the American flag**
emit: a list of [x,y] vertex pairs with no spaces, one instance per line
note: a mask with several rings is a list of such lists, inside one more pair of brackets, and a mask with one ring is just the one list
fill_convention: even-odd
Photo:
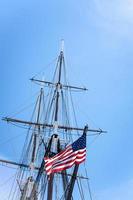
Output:
[[[11,160],[0,159],[0,163],[15,165],[15,166],[19,166],[20,168],[21,167],[30,168],[29,165],[22,164],[22,163],[17,163],[17,162],[11,161]],[[39,170],[40,168],[39,167],[35,167],[34,169],[35,170]],[[45,169],[44,169],[44,171],[45,171]],[[63,173],[63,171],[62,171],[62,173]],[[61,172],[58,172],[57,174],[61,174]],[[65,172],[63,174],[66,175]],[[66,176],[72,176],[72,174],[67,174]],[[80,175],[77,175],[77,177],[81,178],[81,179],[89,179],[88,177],[84,177],[84,176],[80,176]]]

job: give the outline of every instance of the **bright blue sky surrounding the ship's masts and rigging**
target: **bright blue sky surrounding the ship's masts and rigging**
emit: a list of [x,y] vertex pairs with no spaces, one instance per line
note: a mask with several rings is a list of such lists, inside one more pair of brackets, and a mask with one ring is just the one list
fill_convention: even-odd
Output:
[[[32,101],[39,88],[29,78],[57,56],[61,38],[65,40],[69,81],[89,89],[88,94],[75,98],[80,107],[78,120],[108,131],[94,143],[88,138],[87,168],[94,200],[131,200],[131,0],[0,1],[0,116],[12,115],[20,105],[27,105],[27,99]],[[23,142],[24,130],[3,122],[0,129],[0,155],[17,160],[19,146],[15,144]],[[12,137],[16,139],[9,144]],[[2,180],[5,170],[0,167]],[[11,176],[14,171],[8,173]]]

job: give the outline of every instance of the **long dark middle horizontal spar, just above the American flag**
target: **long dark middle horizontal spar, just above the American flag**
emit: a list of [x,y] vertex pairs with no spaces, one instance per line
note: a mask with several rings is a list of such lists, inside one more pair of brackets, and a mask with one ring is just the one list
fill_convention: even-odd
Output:
[[[24,121],[24,120],[20,120],[20,119],[13,119],[13,118],[2,118],[2,120],[7,121],[7,122],[14,122],[14,123],[20,123],[20,124],[25,124],[25,125],[30,125],[30,126],[39,126],[42,128],[48,127],[48,128],[54,128],[53,124],[47,124],[47,123],[36,123],[36,122],[31,122],[31,121]],[[63,126],[63,125],[58,125],[58,129],[63,129],[63,130],[75,130],[75,131],[84,131],[84,128],[78,128],[78,127],[71,127],[71,126]],[[94,132],[94,133],[106,133],[106,131],[103,131],[101,129],[89,129],[89,132]]]

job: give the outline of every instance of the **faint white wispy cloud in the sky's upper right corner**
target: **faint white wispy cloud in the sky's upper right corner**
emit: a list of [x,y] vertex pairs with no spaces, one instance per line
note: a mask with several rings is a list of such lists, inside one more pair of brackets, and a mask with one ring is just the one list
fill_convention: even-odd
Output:
[[93,0],[87,5],[89,17],[97,27],[116,36],[132,36],[133,0]]

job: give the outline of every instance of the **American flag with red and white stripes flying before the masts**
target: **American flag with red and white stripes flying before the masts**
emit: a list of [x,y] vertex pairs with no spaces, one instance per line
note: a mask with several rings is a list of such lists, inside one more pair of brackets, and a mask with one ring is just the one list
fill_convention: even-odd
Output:
[[74,143],[67,146],[65,150],[52,158],[45,157],[45,170],[47,175],[60,172],[72,167],[74,164],[80,164],[86,158],[86,133],[78,138]]

